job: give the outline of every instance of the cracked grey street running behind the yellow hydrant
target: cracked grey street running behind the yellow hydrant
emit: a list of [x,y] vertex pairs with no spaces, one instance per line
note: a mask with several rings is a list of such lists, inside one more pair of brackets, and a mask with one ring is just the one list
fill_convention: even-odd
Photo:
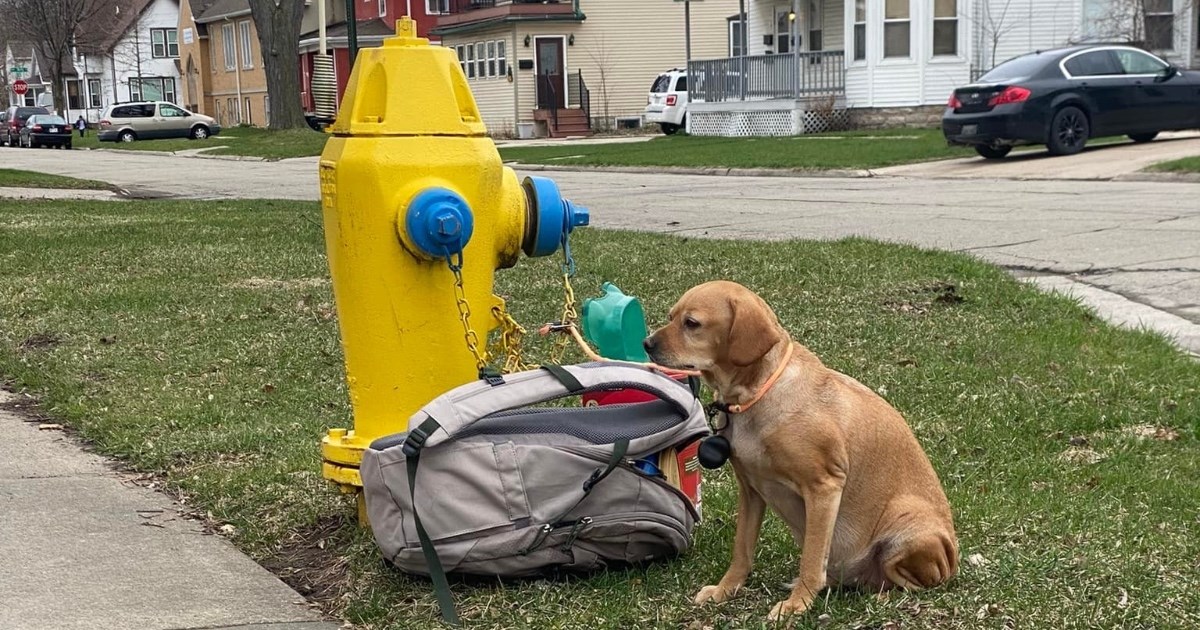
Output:
[[[1142,150],[1110,151],[1127,149]],[[188,198],[318,198],[316,158],[232,162],[0,149],[0,160],[10,168]],[[1062,160],[1032,162],[1046,169]],[[598,227],[763,240],[858,235],[956,250],[1016,274],[1070,276],[1200,324],[1200,184],[989,178],[931,185],[906,176],[595,172],[552,176],[568,197],[592,209]],[[1200,334],[1184,341],[1200,353]]]

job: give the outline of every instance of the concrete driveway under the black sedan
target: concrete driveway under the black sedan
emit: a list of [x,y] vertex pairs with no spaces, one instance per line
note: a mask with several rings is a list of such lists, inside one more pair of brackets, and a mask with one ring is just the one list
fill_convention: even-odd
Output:
[[1164,133],[1146,144],[1096,145],[1070,156],[1051,156],[1043,148],[1014,152],[1004,160],[966,157],[874,170],[876,175],[925,179],[1111,180],[1136,178],[1151,164],[1200,155],[1200,132]]

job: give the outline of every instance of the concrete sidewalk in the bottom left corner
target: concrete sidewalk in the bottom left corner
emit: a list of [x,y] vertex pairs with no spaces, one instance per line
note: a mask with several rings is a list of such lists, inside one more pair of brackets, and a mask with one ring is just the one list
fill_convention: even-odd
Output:
[[337,630],[166,496],[0,390],[0,629]]

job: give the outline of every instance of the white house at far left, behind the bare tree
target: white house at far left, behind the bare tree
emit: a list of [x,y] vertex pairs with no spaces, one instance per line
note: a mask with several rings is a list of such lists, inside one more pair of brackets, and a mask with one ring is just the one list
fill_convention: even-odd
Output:
[[[22,103],[37,103],[53,108],[50,94],[61,88],[66,96],[61,114],[67,120],[83,115],[89,122],[100,120],[104,108],[112,103],[139,100],[176,102],[179,85],[179,1],[134,0],[124,14],[113,20],[115,28],[104,32],[82,32],[79,46],[72,56],[72,66],[62,77],[62,85],[52,85],[49,68],[32,46],[10,44],[6,50],[6,72],[13,67],[26,67],[22,77],[30,78],[30,92]],[[84,24],[80,31],[86,31]],[[18,97],[11,92],[10,102]]]

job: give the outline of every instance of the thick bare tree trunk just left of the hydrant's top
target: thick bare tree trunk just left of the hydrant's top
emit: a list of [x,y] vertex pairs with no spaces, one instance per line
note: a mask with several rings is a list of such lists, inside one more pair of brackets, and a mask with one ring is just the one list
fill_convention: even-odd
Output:
[[[306,127],[300,104],[300,0],[250,0],[258,44],[266,66],[266,95],[271,98],[272,130]],[[354,19],[350,16],[348,19]]]

